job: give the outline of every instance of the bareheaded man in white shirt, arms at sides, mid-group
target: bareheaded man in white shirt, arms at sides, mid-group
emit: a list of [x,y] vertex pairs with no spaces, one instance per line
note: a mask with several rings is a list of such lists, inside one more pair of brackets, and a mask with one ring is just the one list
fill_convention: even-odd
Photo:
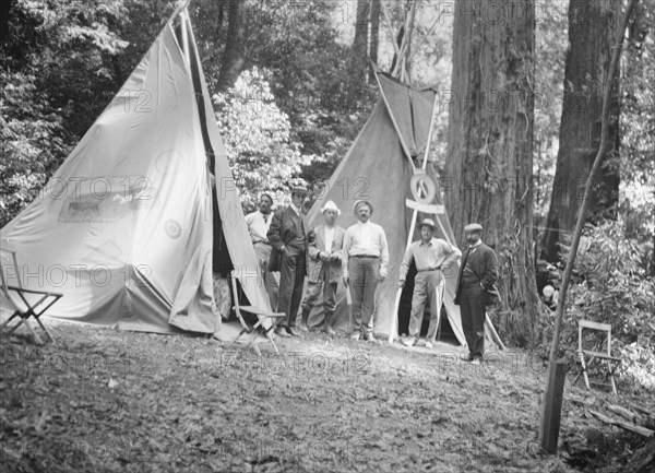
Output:
[[374,342],[372,317],[376,310],[378,283],[386,279],[389,248],[384,229],[369,218],[373,214],[370,202],[355,202],[359,222],[350,226],[344,236],[344,284],[353,298],[350,338]]

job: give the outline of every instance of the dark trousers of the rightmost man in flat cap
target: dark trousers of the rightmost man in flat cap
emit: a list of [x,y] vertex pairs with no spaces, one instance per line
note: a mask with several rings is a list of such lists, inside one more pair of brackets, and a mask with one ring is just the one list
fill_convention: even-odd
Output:
[[462,329],[471,356],[481,358],[485,353],[485,291],[478,282],[463,282],[460,299]]

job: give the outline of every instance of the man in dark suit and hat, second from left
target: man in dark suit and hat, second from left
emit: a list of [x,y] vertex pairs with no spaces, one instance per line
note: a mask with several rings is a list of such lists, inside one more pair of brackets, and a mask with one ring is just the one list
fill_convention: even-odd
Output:
[[291,204],[275,212],[266,233],[273,246],[269,271],[279,270],[277,311],[286,314],[286,319],[275,329],[279,336],[300,336],[296,329],[296,316],[307,274],[308,238],[302,222],[302,204],[306,198],[307,188],[296,186],[291,191]]

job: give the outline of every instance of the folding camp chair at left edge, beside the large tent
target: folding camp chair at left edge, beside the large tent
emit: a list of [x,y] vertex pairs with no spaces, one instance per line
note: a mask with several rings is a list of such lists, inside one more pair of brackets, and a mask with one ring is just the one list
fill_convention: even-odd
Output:
[[[15,284],[10,284],[10,280],[15,281]],[[24,288],[19,273],[15,248],[8,240],[2,240],[0,243],[0,282],[4,299],[3,303],[9,306],[10,311],[13,310],[11,317],[0,324],[0,331],[9,335],[19,327],[25,324],[36,343],[40,345],[43,344],[40,338],[29,324],[29,318],[34,318],[44,332],[46,332],[46,335],[48,335],[50,341],[55,342],[55,339],[50,332],[48,332],[48,329],[46,329],[40,321],[40,316],[48,310],[52,304],[59,300],[63,294]],[[4,328],[15,318],[21,319],[19,323],[4,332]]]

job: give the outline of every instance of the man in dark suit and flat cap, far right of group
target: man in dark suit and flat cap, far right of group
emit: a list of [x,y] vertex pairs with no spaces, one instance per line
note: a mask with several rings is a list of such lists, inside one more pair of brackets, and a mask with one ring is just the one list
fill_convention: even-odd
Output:
[[462,314],[462,329],[468,344],[468,360],[479,365],[485,353],[486,291],[498,279],[496,251],[480,239],[483,226],[472,223],[464,227],[468,249],[464,253],[457,280],[455,304]]

